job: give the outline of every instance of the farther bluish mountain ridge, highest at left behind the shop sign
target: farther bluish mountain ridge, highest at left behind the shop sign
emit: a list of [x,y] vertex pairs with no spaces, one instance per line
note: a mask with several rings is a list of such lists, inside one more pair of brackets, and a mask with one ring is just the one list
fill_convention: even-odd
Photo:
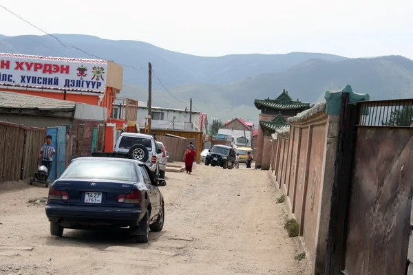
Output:
[[[125,67],[124,82],[127,85],[147,87],[148,61],[166,87],[186,83],[226,85],[237,80],[260,74],[283,72],[310,58],[326,61],[346,59],[331,54],[245,54],[220,57],[202,57],[171,52],[140,41],[113,41],[96,36],[55,34],[64,45],[73,45],[90,54],[136,69]],[[73,47],[64,47],[50,36],[0,36],[0,43],[19,54],[94,58]],[[11,52],[6,47],[1,51]]]

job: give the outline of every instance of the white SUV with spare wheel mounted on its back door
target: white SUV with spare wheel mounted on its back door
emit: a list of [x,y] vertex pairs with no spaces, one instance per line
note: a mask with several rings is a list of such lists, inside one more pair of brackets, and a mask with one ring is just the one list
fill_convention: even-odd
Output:
[[136,160],[145,162],[155,179],[159,178],[159,156],[162,149],[157,148],[151,135],[142,133],[122,133],[116,142],[115,153],[131,155]]

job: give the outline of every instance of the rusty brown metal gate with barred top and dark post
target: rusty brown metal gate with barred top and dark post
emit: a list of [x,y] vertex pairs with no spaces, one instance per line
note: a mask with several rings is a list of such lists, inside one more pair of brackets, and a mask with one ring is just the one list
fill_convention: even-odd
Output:
[[326,274],[407,273],[413,100],[343,94]]

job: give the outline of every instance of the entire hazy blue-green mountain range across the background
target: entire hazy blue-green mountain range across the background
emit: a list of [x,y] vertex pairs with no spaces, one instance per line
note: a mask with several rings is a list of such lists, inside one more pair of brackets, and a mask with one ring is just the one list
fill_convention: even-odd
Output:
[[[140,41],[96,36],[2,36],[1,52],[103,58],[124,65],[123,97],[147,101],[148,62],[153,67],[153,105],[189,108],[227,120],[257,120],[255,98],[275,98],[287,89],[293,99],[315,103],[327,90],[349,84],[371,99],[413,97],[413,61],[403,56],[346,58],[332,54],[236,54],[202,57]],[[59,40],[58,40],[59,39]]]

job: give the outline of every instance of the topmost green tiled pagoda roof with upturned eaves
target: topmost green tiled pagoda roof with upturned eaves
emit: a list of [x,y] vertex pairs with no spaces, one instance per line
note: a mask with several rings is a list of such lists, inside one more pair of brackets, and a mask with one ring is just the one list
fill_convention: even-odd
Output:
[[254,100],[254,104],[259,110],[262,108],[273,110],[304,110],[310,108],[310,103],[292,100],[290,96],[288,96],[288,91],[285,90],[276,99],[256,99]]

